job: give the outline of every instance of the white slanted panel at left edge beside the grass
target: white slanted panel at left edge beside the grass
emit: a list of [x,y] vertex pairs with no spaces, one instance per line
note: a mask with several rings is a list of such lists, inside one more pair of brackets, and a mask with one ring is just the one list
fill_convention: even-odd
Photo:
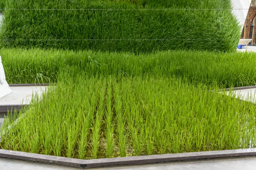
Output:
[[8,83],[6,82],[2,59],[0,56],[0,98],[2,98],[3,96],[6,96],[7,94],[10,94],[10,93],[12,93],[12,90],[9,87]]

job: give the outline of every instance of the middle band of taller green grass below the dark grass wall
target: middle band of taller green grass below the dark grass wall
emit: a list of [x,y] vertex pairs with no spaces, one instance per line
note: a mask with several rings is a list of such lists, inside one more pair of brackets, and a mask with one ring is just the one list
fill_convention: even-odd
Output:
[[186,77],[188,81],[224,87],[256,84],[254,54],[164,51],[152,54],[1,49],[6,79],[11,83],[58,82],[61,71],[77,67],[88,77]]

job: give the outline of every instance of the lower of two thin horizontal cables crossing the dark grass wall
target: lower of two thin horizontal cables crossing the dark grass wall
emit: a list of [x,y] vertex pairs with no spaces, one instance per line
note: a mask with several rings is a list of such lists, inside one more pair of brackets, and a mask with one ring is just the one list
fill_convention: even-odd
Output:
[[63,39],[16,39],[16,40],[11,40],[11,39],[3,39],[0,41],[169,41],[169,40],[239,40],[239,39],[230,39],[230,38],[215,38],[215,39],[211,39],[211,38],[201,38],[201,39],[67,39],[67,40],[63,40]]

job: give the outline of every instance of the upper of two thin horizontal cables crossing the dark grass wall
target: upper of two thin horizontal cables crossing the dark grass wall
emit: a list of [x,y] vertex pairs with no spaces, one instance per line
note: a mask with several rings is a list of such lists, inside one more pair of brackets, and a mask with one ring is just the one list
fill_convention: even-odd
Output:
[[208,10],[215,10],[215,11],[224,11],[224,10],[249,10],[249,9],[244,9],[244,8],[234,8],[234,9],[229,9],[229,8],[218,8],[218,9],[212,9],[212,8],[201,8],[201,9],[194,9],[194,8],[183,8],[183,9],[172,9],[172,8],[166,8],[166,9],[54,9],[54,8],[0,8],[0,10],[42,10],[42,11],[134,11],[134,10],[139,10],[139,11],[208,11]]

